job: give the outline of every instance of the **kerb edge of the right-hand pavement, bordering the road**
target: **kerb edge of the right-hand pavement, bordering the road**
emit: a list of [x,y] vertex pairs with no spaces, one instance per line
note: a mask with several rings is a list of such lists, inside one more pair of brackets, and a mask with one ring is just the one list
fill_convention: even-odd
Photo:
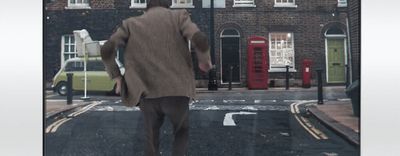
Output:
[[321,123],[326,125],[329,129],[333,130],[349,143],[360,146],[359,133],[356,133],[350,128],[338,123],[336,120],[332,119],[325,113],[319,111],[316,107],[309,107],[308,112],[310,112],[315,118],[321,121]]

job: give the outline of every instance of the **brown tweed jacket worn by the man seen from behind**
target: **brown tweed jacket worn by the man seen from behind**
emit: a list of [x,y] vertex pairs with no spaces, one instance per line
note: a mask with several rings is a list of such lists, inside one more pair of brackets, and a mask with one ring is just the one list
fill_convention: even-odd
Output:
[[[140,98],[195,96],[195,79],[188,40],[198,32],[186,10],[150,8],[143,15],[123,20],[101,49],[110,78],[121,76],[115,62],[118,47],[125,47],[121,97],[126,106]],[[199,62],[209,52],[196,51]]]

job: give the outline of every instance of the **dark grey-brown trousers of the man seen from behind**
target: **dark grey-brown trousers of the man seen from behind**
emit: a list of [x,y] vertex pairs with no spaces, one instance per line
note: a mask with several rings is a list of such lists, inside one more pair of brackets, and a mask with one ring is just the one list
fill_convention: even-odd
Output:
[[173,126],[172,156],[187,154],[189,139],[189,97],[168,96],[142,99],[140,109],[144,115],[146,131],[145,156],[159,156],[160,128],[167,116]]

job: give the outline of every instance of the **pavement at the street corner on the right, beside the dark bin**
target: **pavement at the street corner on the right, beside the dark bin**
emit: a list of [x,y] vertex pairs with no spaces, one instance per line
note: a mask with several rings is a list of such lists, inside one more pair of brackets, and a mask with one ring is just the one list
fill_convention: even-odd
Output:
[[350,143],[360,145],[360,118],[353,115],[351,101],[327,101],[308,111]]

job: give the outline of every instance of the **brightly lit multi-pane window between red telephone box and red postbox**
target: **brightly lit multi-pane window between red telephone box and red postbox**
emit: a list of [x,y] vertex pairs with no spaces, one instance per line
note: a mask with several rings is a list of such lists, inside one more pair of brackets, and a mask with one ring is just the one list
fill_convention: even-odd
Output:
[[286,65],[294,69],[293,33],[275,32],[269,34],[269,60],[271,71],[285,71]]

